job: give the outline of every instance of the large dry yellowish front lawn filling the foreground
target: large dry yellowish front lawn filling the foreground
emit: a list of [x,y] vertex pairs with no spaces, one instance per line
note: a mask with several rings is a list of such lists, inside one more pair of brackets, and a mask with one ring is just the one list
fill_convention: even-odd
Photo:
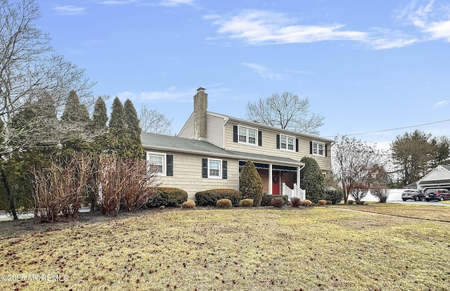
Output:
[[0,274],[67,278],[0,290],[450,290],[449,235],[325,207],[155,212],[0,240]]

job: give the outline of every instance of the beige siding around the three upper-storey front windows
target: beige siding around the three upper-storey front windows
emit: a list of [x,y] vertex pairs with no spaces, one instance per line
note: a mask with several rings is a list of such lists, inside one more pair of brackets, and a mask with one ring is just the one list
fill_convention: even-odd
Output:
[[[262,146],[248,145],[245,143],[236,143],[233,141],[233,126],[238,125],[236,123],[227,123],[225,126],[225,150],[236,150],[244,153],[259,153],[261,155],[271,155],[274,157],[289,157],[293,160],[300,161],[302,157],[314,157],[314,159],[321,167],[322,171],[330,171],[330,145],[328,144],[327,157],[319,157],[309,154],[309,142],[311,139],[303,138],[302,136],[293,137],[298,138],[298,152],[295,150],[281,150],[276,148],[276,135],[280,134],[280,131],[274,129],[273,131],[267,129],[258,129],[262,131]],[[245,124],[243,124],[245,126]]]

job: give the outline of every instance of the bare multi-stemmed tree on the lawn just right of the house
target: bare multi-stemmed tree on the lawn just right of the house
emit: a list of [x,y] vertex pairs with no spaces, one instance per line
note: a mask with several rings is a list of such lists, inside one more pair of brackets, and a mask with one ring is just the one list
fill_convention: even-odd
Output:
[[374,177],[385,166],[387,154],[375,145],[356,138],[343,136],[335,140],[332,147],[333,170],[342,183],[347,203],[349,195],[359,185],[370,186],[374,183]]

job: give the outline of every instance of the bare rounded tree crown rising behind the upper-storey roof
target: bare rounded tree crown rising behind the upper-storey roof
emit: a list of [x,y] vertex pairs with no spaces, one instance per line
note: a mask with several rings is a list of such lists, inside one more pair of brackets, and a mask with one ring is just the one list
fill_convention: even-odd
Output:
[[247,118],[271,127],[279,127],[297,131],[302,134],[319,134],[319,127],[323,125],[321,115],[309,112],[307,97],[300,99],[292,92],[272,94],[268,98],[260,98],[257,103],[248,103]]

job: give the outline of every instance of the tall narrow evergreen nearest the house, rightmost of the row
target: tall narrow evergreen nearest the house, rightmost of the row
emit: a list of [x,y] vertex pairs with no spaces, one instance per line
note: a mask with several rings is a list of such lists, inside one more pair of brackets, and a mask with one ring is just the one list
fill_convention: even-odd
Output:
[[141,127],[136,109],[129,99],[124,103],[124,115],[125,128],[131,143],[130,154],[133,157],[142,158],[144,151],[141,143]]

